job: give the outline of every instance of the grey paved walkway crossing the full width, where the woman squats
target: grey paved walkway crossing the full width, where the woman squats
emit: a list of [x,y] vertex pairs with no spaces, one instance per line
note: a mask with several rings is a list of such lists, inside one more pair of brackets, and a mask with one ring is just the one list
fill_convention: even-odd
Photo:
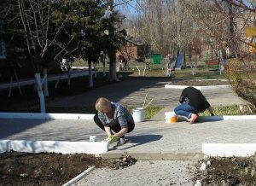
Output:
[[[0,119],[0,139],[96,141],[106,136],[92,121],[73,119]],[[161,159],[172,155],[173,159],[192,159],[201,152],[201,144],[207,142],[256,142],[255,120],[220,120],[188,125],[186,122],[166,124],[164,120],[148,120],[137,123],[126,137],[129,140],[120,147],[110,146],[108,157],[129,153],[139,159]],[[175,155],[177,154],[177,155]],[[166,155],[166,156],[163,156]],[[150,157],[148,156],[148,159]],[[160,157],[160,158],[157,158]]]

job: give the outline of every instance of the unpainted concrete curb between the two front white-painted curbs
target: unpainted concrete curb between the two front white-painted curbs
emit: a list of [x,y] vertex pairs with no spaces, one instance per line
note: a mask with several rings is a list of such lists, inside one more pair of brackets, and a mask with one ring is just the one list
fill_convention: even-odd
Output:
[[119,150],[118,152],[111,152],[102,154],[104,159],[119,159],[123,154],[131,155],[137,160],[201,160],[203,154],[201,149],[195,150],[176,150],[176,151],[159,151],[159,152],[129,152]]

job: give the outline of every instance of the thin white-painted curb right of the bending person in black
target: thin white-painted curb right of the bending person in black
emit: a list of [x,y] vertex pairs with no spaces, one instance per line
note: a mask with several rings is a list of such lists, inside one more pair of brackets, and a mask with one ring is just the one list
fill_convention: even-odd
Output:
[[[175,114],[174,112],[170,112]],[[256,115],[224,115],[224,116],[199,116],[201,121],[218,121],[218,120],[250,120],[256,119]]]

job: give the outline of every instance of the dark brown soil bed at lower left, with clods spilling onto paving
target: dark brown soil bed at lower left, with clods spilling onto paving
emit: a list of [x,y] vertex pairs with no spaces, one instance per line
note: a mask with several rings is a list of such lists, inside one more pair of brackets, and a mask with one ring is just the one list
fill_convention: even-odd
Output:
[[62,185],[90,166],[121,169],[136,163],[131,156],[105,160],[90,154],[0,154],[0,185]]

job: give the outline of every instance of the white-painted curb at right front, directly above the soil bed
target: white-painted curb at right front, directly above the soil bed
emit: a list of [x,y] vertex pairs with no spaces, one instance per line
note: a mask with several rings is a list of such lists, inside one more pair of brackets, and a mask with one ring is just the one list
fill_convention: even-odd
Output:
[[256,152],[256,143],[202,143],[202,153],[218,157],[248,157]]

